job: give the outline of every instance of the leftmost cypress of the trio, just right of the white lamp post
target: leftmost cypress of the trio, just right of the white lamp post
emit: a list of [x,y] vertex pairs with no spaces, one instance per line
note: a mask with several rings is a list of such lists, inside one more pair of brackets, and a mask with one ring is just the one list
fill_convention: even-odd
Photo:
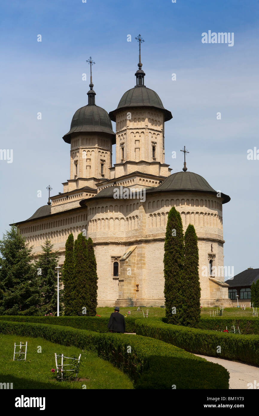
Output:
[[63,302],[65,315],[72,315],[72,296],[74,292],[74,236],[69,234],[66,241],[66,252],[64,266],[62,270],[62,280],[64,285]]

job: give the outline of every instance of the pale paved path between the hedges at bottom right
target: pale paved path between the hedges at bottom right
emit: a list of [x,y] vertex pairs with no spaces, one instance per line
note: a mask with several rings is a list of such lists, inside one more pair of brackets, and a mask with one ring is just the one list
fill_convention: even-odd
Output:
[[256,385],[257,389],[259,389],[259,367],[217,357],[207,357],[206,355],[200,354],[194,355],[197,355],[197,357],[205,358],[207,361],[217,363],[222,365],[222,367],[225,367],[229,371],[230,375],[229,389],[248,389],[248,383],[253,384],[253,389]]

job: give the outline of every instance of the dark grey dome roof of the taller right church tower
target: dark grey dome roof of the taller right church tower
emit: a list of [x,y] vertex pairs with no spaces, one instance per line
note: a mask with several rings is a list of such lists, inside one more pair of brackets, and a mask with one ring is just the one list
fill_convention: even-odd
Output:
[[120,99],[118,107],[109,113],[112,121],[116,121],[116,113],[128,107],[154,107],[163,111],[165,121],[173,118],[171,111],[164,108],[158,94],[144,85],[137,85],[126,91]]

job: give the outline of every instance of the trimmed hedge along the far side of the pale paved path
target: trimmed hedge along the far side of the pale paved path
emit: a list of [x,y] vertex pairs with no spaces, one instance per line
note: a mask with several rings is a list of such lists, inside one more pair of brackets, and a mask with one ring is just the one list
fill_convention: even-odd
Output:
[[[168,342],[186,351],[259,366],[259,336],[187,328],[150,320],[135,321],[136,334]],[[217,353],[218,346],[221,353]]]

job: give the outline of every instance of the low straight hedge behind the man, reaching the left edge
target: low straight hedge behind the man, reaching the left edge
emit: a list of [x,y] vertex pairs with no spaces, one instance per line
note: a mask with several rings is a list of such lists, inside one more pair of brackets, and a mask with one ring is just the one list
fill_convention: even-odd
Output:
[[[126,332],[135,332],[135,319],[126,317]],[[18,316],[2,315],[0,320],[15,322],[30,322],[35,324],[62,325],[88,331],[108,332],[109,318],[87,316]]]

